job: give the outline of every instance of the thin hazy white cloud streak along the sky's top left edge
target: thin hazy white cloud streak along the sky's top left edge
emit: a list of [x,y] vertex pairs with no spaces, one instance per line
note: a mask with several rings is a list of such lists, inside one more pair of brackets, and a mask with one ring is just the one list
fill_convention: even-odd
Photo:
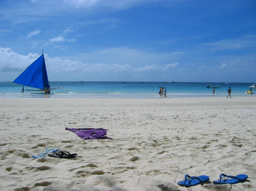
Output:
[[[3,19],[13,23],[31,22],[48,19],[62,14],[95,14],[138,7],[143,4],[161,2],[161,0],[30,0],[15,1],[1,10]],[[38,11],[40,9],[40,11]],[[47,17],[45,17],[47,16]]]

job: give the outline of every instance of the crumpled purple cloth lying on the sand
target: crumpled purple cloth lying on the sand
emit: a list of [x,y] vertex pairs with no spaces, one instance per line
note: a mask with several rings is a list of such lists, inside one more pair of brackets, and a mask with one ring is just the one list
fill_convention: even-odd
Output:
[[73,129],[73,128],[65,128],[65,130],[72,131],[76,133],[81,139],[111,139],[105,135],[107,135],[108,129],[94,129],[94,128],[79,128],[79,129]]

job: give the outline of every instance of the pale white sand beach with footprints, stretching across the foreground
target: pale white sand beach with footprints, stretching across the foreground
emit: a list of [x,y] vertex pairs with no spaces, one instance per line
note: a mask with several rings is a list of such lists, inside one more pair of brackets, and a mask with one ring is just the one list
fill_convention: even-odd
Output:
[[[3,98],[0,110],[1,191],[256,190],[255,97]],[[113,140],[82,140],[66,127],[105,128]],[[45,148],[78,157],[31,157]],[[177,184],[221,173],[248,181]]]

